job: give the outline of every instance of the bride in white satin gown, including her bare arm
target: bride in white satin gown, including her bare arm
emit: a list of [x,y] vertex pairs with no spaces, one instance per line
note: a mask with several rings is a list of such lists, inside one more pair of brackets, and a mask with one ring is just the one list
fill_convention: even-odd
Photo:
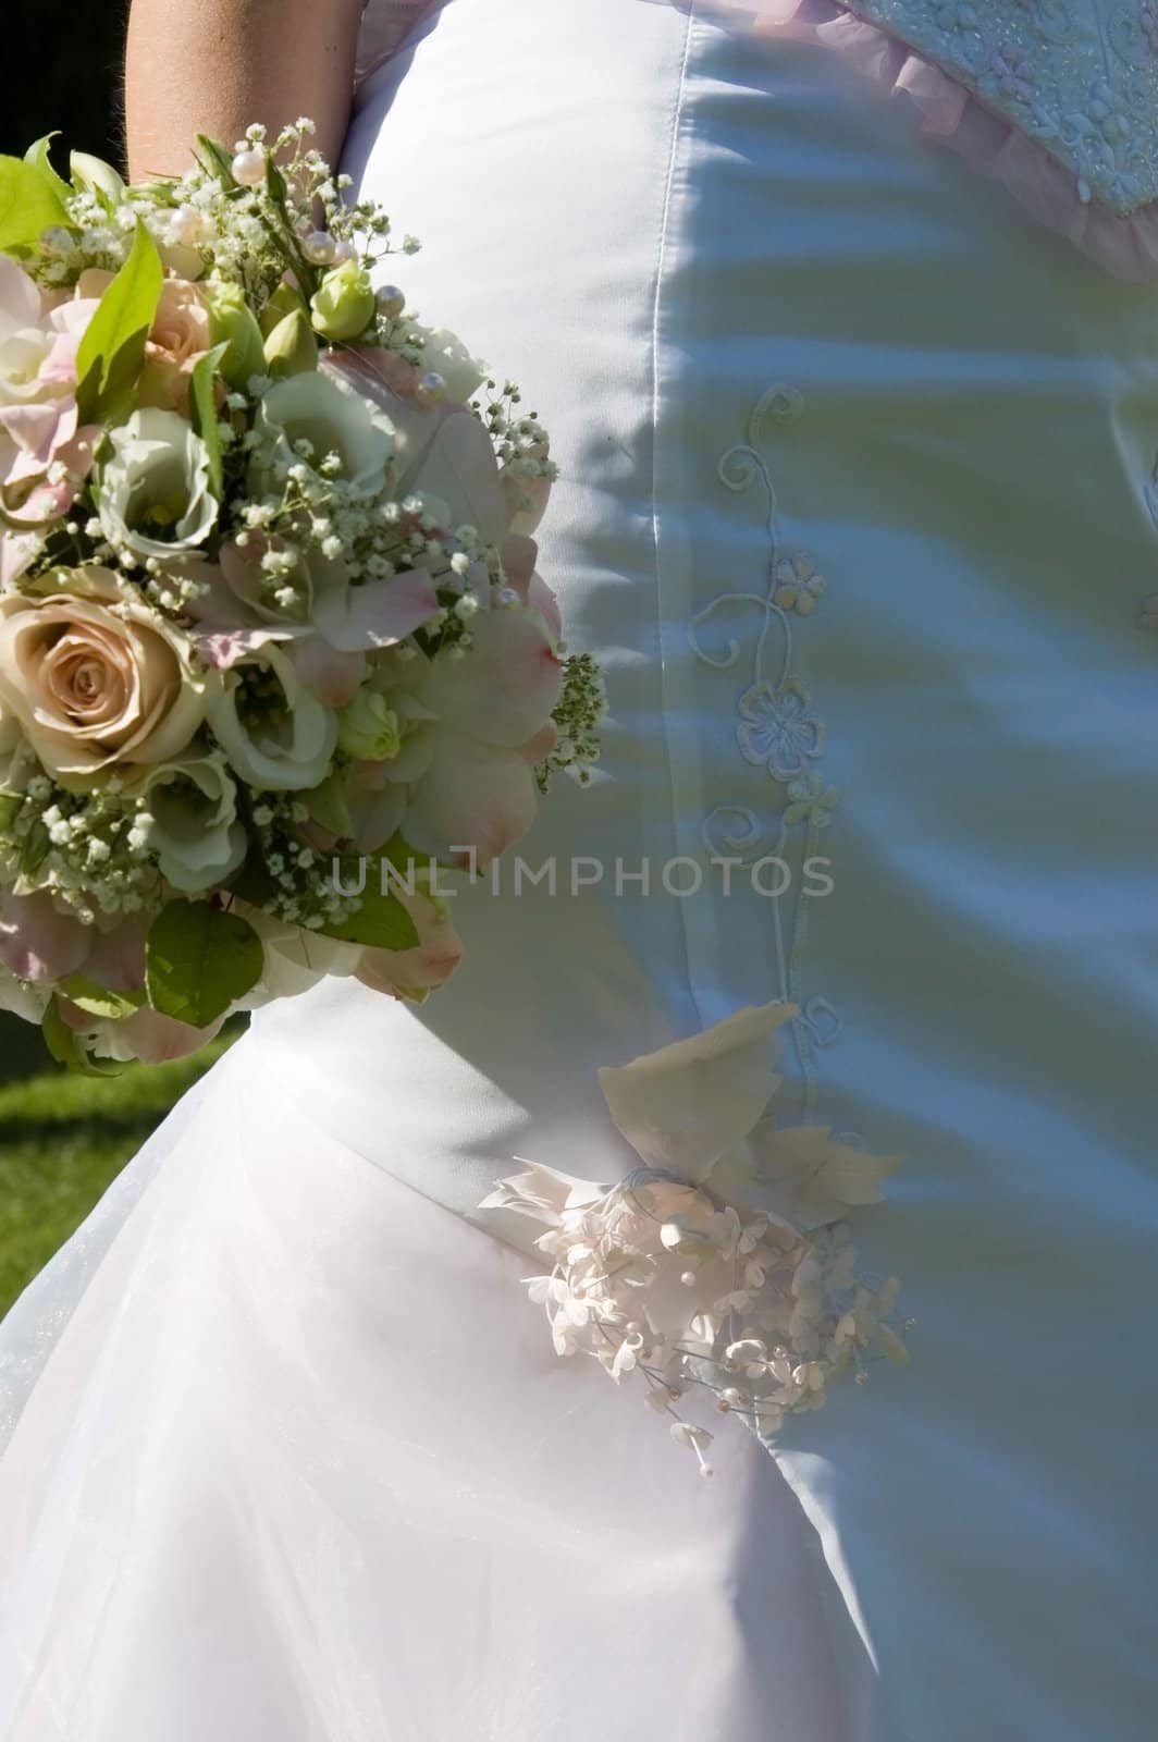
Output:
[[[425,226],[555,437],[601,772],[449,988],[259,1012],[14,1308],[0,1737],[1144,1742],[1155,7],[359,10],[134,0],[132,169],[308,113]],[[768,1003],[778,1104],[904,1158],[912,1362],[698,1481],[479,1205],[623,1178],[599,1068]]]

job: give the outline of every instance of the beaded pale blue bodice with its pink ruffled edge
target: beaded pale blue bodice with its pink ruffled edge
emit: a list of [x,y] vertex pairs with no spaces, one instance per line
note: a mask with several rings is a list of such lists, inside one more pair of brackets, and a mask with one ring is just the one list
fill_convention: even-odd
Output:
[[[360,82],[451,3],[489,0],[367,0]],[[1158,0],[646,3],[836,49],[1034,219],[1118,275],[1158,277]]]

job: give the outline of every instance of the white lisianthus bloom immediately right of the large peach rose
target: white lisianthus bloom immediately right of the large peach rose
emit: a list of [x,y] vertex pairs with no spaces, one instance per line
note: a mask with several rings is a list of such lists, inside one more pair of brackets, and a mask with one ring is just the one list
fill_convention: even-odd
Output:
[[298,678],[289,655],[266,643],[226,674],[207,709],[232,768],[270,793],[308,791],[329,773],[338,721]]

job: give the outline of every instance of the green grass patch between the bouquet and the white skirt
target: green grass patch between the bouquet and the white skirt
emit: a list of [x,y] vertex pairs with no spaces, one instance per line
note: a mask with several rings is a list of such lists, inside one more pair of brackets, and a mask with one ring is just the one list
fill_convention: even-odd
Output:
[[35,1059],[33,1075],[0,1085],[0,1315],[228,1043],[122,1077],[70,1077]]

